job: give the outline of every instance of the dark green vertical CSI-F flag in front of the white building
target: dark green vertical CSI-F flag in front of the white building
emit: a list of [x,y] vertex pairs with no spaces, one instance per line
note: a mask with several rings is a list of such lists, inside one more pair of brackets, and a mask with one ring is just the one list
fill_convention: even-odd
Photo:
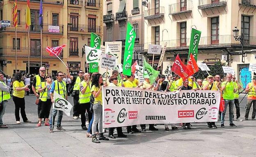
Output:
[[197,53],[198,53],[198,44],[201,36],[201,31],[198,31],[196,29],[192,29],[191,31],[191,37],[190,37],[190,48],[188,52],[188,59],[190,58],[190,53],[193,54],[195,60],[197,61]]

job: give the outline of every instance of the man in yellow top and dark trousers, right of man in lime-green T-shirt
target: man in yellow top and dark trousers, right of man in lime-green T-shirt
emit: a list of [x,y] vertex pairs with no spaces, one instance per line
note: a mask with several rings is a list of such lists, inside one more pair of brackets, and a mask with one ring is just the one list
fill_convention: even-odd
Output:
[[[232,76],[232,80],[234,82],[234,86],[235,86],[235,89],[237,90],[235,93],[234,93],[234,104],[235,104],[235,109],[236,109],[236,121],[239,121],[239,122],[242,122],[243,120],[240,119],[240,107],[239,107],[239,90],[242,88],[242,86],[239,84],[238,80],[235,78],[235,76],[233,75]],[[233,115],[234,117],[234,115]]]

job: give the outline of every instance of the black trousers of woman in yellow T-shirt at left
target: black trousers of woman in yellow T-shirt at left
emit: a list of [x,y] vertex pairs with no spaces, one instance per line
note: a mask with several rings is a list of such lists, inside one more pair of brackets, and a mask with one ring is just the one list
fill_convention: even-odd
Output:
[[25,98],[20,98],[16,96],[12,96],[12,100],[15,104],[15,119],[16,121],[20,121],[20,109],[21,109],[21,117],[23,119],[23,122],[27,120],[27,115],[25,112]]

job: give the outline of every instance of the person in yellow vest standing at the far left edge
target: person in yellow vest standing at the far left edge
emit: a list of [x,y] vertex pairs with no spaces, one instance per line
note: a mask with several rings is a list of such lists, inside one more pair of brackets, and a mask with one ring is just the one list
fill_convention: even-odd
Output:
[[0,73],[0,103],[2,102],[2,107],[0,108],[0,128],[8,128],[2,122],[2,117],[5,114],[5,107],[7,106],[10,96],[11,87],[7,86],[4,82],[4,75]]

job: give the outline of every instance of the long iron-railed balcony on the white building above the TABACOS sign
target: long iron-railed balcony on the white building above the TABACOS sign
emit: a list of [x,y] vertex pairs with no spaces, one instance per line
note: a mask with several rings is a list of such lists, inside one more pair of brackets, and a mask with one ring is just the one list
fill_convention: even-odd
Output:
[[[248,40],[244,41],[244,48],[256,48],[256,37],[249,36],[247,37]],[[186,39],[178,39],[178,40],[166,40],[160,41],[160,45],[164,45],[167,42],[167,49],[168,50],[184,50],[189,49],[190,38]],[[155,44],[155,42],[145,43],[144,49],[148,49],[149,44]],[[235,41],[233,35],[219,35],[219,36],[207,36],[201,37],[199,41],[199,48],[208,48],[208,49],[215,49],[215,48],[222,48],[222,47],[231,47],[231,46],[238,46],[240,47],[241,44],[239,41]]]

